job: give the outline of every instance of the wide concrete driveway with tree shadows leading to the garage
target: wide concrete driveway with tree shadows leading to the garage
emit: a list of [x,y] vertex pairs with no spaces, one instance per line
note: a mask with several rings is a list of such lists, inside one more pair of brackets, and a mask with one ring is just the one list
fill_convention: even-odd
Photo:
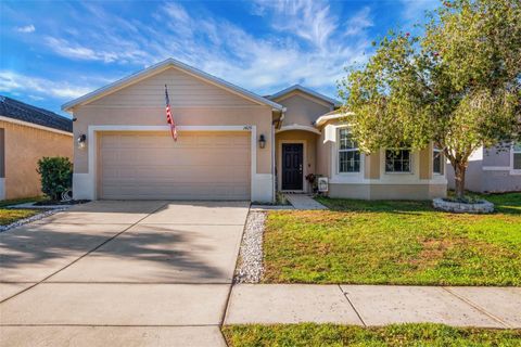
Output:
[[0,234],[2,346],[219,346],[247,202],[93,202]]

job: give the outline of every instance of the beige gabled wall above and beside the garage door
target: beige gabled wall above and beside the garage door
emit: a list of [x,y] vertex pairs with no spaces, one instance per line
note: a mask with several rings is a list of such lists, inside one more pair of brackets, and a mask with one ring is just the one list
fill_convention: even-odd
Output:
[[[178,126],[256,126],[266,147],[257,151],[257,174],[271,174],[271,107],[192,77],[174,67],[74,110],[74,134],[89,126],[165,126],[165,91],[168,85],[174,120]],[[182,131],[179,131],[182,137]],[[88,151],[75,149],[75,174],[88,172]]]

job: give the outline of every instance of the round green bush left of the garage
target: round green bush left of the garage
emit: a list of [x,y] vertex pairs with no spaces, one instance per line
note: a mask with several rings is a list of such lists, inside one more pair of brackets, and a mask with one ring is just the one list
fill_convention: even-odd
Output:
[[41,191],[52,201],[60,201],[63,192],[73,184],[73,163],[67,157],[42,157],[38,160]]

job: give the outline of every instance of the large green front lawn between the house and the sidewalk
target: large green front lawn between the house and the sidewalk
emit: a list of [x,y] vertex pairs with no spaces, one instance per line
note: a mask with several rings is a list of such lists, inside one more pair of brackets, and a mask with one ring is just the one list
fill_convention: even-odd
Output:
[[521,193],[493,215],[430,202],[319,198],[329,211],[270,211],[266,283],[521,285]]

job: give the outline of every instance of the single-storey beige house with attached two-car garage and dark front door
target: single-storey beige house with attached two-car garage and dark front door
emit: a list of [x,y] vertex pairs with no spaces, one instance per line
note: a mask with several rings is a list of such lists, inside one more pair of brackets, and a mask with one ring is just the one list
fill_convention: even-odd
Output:
[[[179,139],[165,117],[168,93]],[[251,200],[309,192],[308,174],[330,178],[330,195],[430,198],[446,194],[434,151],[365,156],[340,103],[301,86],[263,98],[173,59],[66,103],[74,114],[76,198]],[[435,172],[439,171],[439,172]]]

